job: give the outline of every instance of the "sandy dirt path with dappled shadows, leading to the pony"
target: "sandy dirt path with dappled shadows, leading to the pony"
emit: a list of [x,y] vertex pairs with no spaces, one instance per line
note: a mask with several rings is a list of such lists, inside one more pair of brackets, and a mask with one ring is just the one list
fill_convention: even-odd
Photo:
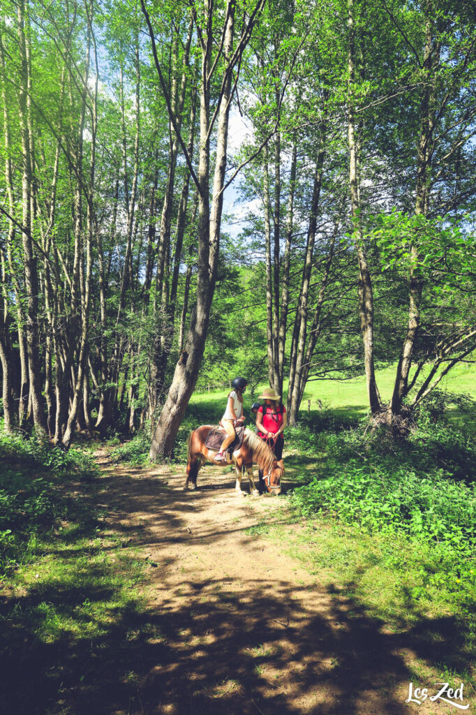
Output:
[[[184,469],[97,457],[109,525],[149,563],[144,595],[155,631],[144,634],[135,661],[129,713],[453,711],[405,704],[414,654],[293,558],[301,527],[282,499],[239,498],[228,468],[205,467],[198,490],[184,493]],[[278,525],[279,538],[266,536],[263,524]]]

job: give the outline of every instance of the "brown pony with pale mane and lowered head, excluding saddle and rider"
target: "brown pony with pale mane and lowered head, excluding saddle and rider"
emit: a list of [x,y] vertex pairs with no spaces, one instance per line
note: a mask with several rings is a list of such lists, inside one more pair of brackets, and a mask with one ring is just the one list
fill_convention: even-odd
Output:
[[[199,469],[208,460],[211,464],[224,467],[226,462],[216,462],[217,453],[209,450],[205,446],[205,440],[212,425],[202,425],[194,430],[187,443],[187,480],[185,481],[184,490],[189,488],[197,488],[197,475]],[[258,494],[259,491],[254,484],[253,463],[258,465],[262,470],[264,484],[270,494],[281,493],[281,478],[284,475],[284,463],[281,460],[277,461],[272,450],[266,442],[261,440],[252,430],[244,430],[242,446],[235,450],[232,457],[234,469],[237,475],[237,483],[235,490],[237,494],[244,496],[242,492],[242,473],[243,469],[247,470],[249,478],[249,491],[252,494]]]

